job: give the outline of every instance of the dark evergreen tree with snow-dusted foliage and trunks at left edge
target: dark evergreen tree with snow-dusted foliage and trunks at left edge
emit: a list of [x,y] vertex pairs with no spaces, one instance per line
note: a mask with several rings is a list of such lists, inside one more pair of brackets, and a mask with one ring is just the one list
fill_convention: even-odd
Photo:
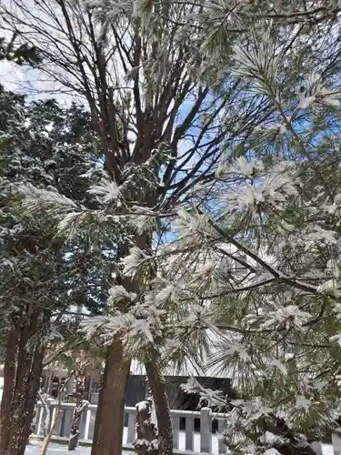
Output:
[[54,100],[28,104],[2,87],[0,98],[0,446],[24,454],[42,369],[79,342],[72,307],[100,311],[109,258],[55,237],[53,219],[22,209],[22,188],[30,185],[55,186],[75,204],[96,206],[86,191],[102,176],[101,149],[88,114]]

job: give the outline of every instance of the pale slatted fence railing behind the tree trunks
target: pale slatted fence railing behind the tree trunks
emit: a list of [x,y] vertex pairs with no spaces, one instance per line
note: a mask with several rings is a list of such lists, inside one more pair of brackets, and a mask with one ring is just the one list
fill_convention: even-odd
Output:
[[[57,404],[49,402],[50,423],[55,420]],[[68,440],[75,403],[63,403],[62,409],[57,416],[53,431],[54,440]],[[83,413],[80,424],[80,441],[91,443],[94,436],[95,413],[97,405],[90,404]],[[209,408],[200,411],[172,410],[174,450],[176,453],[196,452],[226,454],[226,446],[222,442],[222,432],[225,428],[225,414],[213,413]],[[35,414],[34,436],[44,436],[45,409],[42,403],[38,402]],[[135,440],[135,408],[125,407],[125,429],[123,434],[123,446],[125,449],[133,449]],[[48,429],[49,430],[49,429]],[[317,455],[341,455],[341,438],[332,436],[332,444],[314,442],[314,450]]]

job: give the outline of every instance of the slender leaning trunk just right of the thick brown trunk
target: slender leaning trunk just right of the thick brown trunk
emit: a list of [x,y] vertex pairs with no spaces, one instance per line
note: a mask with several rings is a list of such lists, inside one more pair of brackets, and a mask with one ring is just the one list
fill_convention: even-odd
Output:
[[145,371],[148,377],[155,402],[155,412],[158,428],[160,455],[173,455],[173,427],[170,417],[169,404],[165,391],[165,379],[157,369],[157,356],[155,361],[145,362]]

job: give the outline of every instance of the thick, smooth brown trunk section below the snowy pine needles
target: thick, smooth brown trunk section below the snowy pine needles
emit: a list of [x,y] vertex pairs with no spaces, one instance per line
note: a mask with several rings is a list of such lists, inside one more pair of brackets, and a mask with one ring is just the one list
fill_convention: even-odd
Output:
[[91,455],[121,455],[129,369],[130,361],[125,360],[123,346],[117,341],[105,361]]

